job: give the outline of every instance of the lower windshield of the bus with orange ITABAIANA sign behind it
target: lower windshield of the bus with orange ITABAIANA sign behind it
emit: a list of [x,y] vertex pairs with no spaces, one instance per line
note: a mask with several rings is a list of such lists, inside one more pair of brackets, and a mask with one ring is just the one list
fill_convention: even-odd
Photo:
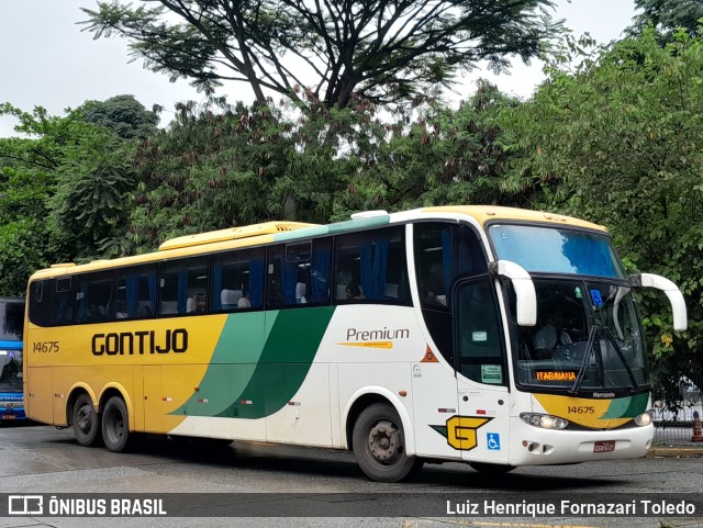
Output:
[[570,393],[647,389],[643,333],[629,288],[584,280],[534,282],[538,323],[520,329],[518,385]]

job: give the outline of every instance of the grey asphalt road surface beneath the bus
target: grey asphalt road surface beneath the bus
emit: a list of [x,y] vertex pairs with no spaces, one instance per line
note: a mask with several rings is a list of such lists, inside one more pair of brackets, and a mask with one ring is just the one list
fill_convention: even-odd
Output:
[[[682,517],[651,512],[645,515],[639,504],[652,493],[667,493],[671,503],[687,497],[699,499],[702,491],[703,458],[693,457],[518,468],[500,478],[488,478],[464,464],[432,464],[411,482],[383,484],[366,479],[347,452],[254,442],[183,445],[148,438],[133,452],[116,454],[78,446],[71,430],[0,424],[0,528],[703,528],[703,508]],[[44,498],[48,501],[56,494],[58,498],[110,501],[133,493],[166,497],[169,517],[10,516],[12,505],[8,505],[7,496],[47,494]],[[176,502],[174,495],[161,495],[174,493],[182,495]],[[220,501],[201,495],[212,493],[223,495]],[[618,504],[638,502],[639,509],[637,517],[501,517],[484,510],[486,501],[542,504],[544,497],[566,497],[576,503],[593,502],[594,497]],[[466,502],[479,504],[479,514],[460,512],[475,507],[464,506]],[[436,508],[455,514],[437,515]]]

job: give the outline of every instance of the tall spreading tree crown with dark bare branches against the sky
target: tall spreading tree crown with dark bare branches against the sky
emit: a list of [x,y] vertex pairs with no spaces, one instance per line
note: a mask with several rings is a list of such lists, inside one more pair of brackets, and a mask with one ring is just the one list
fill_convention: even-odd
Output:
[[[247,82],[300,104],[345,108],[353,96],[398,101],[448,85],[459,69],[535,57],[554,36],[551,0],[158,0],[82,9],[96,38],[119,34],[134,57],[205,90]],[[305,97],[306,96],[306,97]]]

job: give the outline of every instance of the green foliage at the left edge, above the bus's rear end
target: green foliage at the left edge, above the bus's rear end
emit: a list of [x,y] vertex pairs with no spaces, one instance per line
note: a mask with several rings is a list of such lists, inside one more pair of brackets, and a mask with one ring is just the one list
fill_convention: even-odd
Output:
[[22,294],[37,268],[93,258],[114,236],[131,149],[79,111],[56,117],[5,103],[0,115],[22,134],[0,138],[0,293]]

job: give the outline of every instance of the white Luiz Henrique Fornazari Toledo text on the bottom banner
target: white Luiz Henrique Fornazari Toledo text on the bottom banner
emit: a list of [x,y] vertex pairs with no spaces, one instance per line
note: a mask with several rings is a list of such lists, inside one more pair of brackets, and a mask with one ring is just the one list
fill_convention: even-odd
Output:
[[647,516],[695,515],[696,505],[689,501],[627,499],[622,502],[584,502],[557,499],[505,502],[481,499],[447,501],[447,515],[487,517],[549,517],[549,516]]

